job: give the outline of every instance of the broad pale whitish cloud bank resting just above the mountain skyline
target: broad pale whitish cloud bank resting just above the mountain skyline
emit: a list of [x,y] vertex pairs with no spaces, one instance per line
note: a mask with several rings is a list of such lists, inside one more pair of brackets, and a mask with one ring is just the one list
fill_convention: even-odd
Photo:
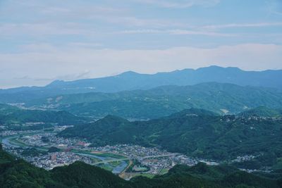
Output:
[[[42,48],[38,46],[20,54],[0,54],[0,87],[47,84],[59,77],[67,80],[102,77],[125,70],[156,73],[208,65],[237,66],[245,70],[282,69],[282,46],[274,44],[161,50],[92,49],[79,45],[75,48],[53,46],[51,51],[44,51],[44,45]],[[19,82],[14,77],[34,80]]]

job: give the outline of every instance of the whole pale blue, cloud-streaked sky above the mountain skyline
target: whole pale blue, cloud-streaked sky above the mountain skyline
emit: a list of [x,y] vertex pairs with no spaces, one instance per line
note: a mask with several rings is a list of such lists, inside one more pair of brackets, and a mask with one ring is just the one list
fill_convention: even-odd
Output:
[[0,0],[0,88],[281,60],[282,0]]

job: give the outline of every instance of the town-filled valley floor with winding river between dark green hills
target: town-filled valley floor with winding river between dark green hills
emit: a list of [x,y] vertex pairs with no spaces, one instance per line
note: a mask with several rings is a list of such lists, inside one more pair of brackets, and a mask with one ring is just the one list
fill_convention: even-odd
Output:
[[[6,151],[46,170],[82,161],[129,180],[137,175],[162,175],[176,164],[192,166],[202,161],[219,165],[214,161],[130,144],[91,147],[80,139],[56,137],[56,133],[62,128],[66,127],[56,127],[54,132],[2,132],[0,137]],[[54,148],[55,151],[50,151]]]

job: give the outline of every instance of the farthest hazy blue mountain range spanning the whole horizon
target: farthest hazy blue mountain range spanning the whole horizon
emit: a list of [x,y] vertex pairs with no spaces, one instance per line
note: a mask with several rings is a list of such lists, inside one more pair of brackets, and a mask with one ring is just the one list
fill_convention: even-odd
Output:
[[0,90],[0,102],[20,103],[59,94],[87,92],[121,92],[152,89],[164,85],[192,85],[202,82],[221,82],[240,86],[272,87],[282,89],[282,70],[244,71],[239,68],[207,68],[176,70],[154,75],[125,72],[111,77],[86,80],[56,80],[46,87],[19,87]]

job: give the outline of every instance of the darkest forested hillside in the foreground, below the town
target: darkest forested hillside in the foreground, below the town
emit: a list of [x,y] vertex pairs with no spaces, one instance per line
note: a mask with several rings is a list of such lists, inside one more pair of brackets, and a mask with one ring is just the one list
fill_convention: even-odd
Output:
[[185,165],[176,165],[166,175],[152,179],[135,177],[130,181],[122,180],[109,171],[82,162],[75,162],[47,171],[21,159],[13,158],[3,151],[1,146],[0,184],[3,188],[279,188],[282,186],[281,179],[252,175],[231,166],[207,166],[204,163],[198,163],[191,168]]

